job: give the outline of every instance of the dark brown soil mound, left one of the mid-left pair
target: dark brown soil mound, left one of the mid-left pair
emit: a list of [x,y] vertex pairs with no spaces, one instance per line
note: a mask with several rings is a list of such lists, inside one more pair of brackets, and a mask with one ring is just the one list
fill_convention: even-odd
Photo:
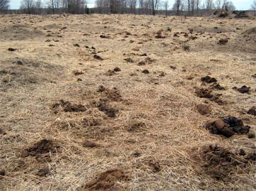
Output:
[[55,113],[58,113],[61,109],[64,112],[84,112],[87,110],[84,105],[73,104],[69,101],[64,101],[63,99],[60,99],[59,103],[53,104],[52,109]]

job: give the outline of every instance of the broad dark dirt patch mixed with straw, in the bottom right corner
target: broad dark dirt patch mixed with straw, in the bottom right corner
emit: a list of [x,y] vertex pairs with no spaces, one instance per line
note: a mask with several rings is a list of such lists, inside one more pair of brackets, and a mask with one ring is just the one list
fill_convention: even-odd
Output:
[[218,146],[202,148],[197,161],[201,161],[201,173],[207,174],[216,180],[232,181],[232,175],[237,173],[237,167],[246,168],[248,161],[237,153]]

